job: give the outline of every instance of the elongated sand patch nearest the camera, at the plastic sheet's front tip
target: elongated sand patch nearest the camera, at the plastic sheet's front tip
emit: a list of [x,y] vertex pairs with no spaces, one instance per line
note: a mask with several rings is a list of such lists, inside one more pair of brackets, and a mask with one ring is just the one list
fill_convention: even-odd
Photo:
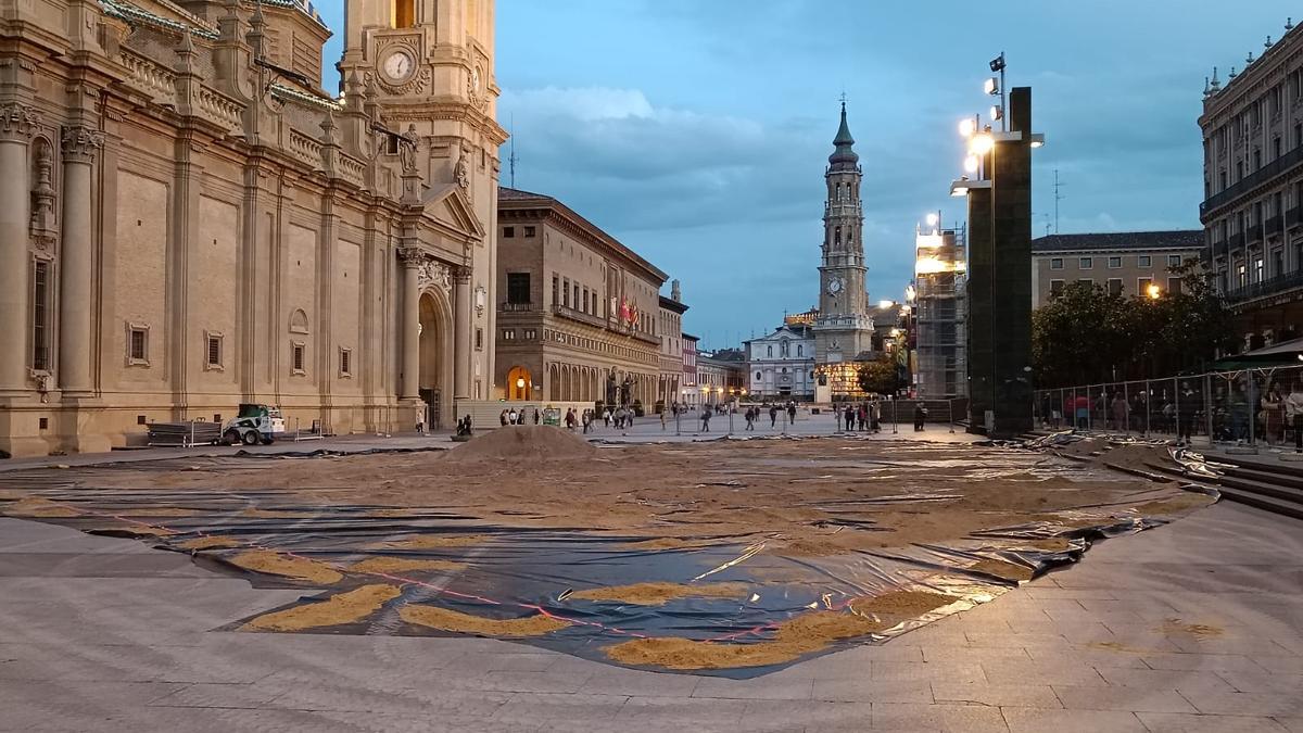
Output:
[[607,647],[606,655],[620,664],[665,669],[734,669],[769,666],[826,648],[833,642],[855,639],[890,627],[881,620],[853,613],[818,610],[778,625],[773,640],[739,644],[692,639],[635,639]]

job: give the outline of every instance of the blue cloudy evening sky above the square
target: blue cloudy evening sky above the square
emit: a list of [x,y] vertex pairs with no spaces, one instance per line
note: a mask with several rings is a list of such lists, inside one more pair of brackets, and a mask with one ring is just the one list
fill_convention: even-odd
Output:
[[[317,3],[343,33],[343,1]],[[1048,137],[1035,232],[1195,228],[1204,77],[1283,34],[1285,0],[1002,3],[498,0],[499,121],[516,187],[560,198],[672,278],[685,330],[735,344],[817,303],[838,98],[865,172],[873,300],[899,299],[913,227],[962,172],[986,63],[1033,89]],[[337,59],[339,46],[327,48]],[[334,89],[334,82],[327,82]],[[509,185],[503,150],[502,181]],[[668,286],[665,290],[668,293]]]

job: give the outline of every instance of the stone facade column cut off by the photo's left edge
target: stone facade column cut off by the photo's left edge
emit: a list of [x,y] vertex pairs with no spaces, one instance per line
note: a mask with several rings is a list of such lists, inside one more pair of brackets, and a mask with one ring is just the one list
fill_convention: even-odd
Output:
[[0,103],[0,393],[27,385],[27,146],[39,124],[34,107]]

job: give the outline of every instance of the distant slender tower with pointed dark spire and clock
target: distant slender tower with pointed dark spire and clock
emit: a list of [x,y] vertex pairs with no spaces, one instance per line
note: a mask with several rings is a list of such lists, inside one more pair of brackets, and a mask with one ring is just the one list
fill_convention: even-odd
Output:
[[864,288],[864,206],[860,181],[864,171],[855,153],[855,138],[846,121],[829,157],[827,202],[823,205],[823,258],[820,270],[820,314],[814,322],[814,350],[820,364],[853,361],[872,348],[873,317]]

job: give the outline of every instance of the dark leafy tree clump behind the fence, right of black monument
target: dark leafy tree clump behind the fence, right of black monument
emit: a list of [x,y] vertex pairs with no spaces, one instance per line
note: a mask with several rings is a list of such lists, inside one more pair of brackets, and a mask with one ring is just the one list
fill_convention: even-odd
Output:
[[1164,377],[1199,369],[1233,343],[1231,317],[1197,260],[1171,267],[1181,292],[1110,295],[1074,283],[1032,314],[1042,387]]

